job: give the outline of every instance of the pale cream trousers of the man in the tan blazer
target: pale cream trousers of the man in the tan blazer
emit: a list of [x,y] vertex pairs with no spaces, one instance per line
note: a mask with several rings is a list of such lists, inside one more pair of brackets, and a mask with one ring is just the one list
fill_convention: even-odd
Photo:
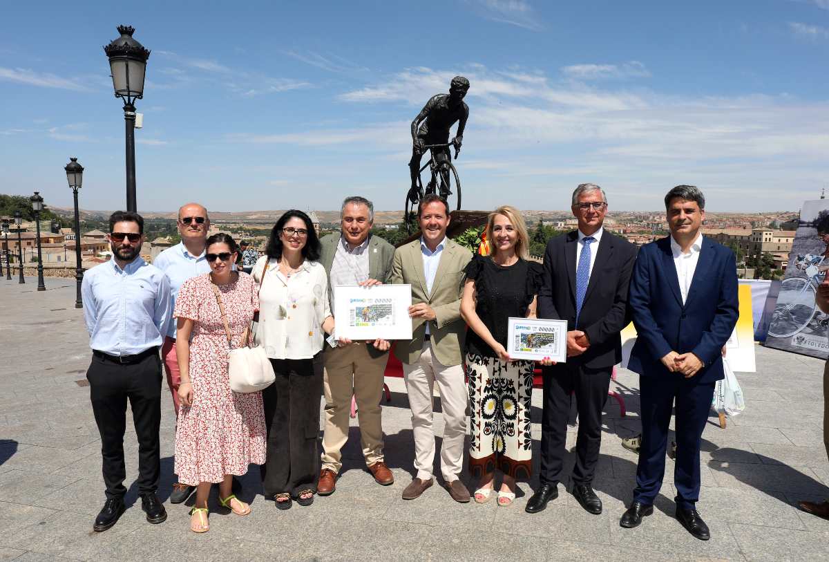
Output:
[[444,443],[440,448],[440,472],[444,481],[458,479],[463,468],[463,438],[466,435],[468,394],[463,365],[446,366],[435,358],[430,342],[424,342],[419,360],[403,364],[403,380],[412,410],[414,468],[421,480],[432,478],[434,431],[432,405],[434,383],[438,382],[440,405],[444,410]]

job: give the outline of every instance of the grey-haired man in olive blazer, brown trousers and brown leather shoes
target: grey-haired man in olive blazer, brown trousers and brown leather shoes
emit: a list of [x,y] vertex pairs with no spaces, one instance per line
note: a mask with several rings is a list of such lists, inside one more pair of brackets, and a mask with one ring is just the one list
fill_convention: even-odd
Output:
[[[337,285],[388,283],[395,247],[380,236],[371,235],[374,206],[364,197],[347,197],[342,202],[342,231],[320,240],[320,262],[328,274],[329,298],[334,309]],[[334,318],[337,330],[337,318]],[[317,491],[321,496],[334,492],[342,468],[342,447],[348,440],[348,414],[353,388],[360,409],[360,435],[366,466],[378,484],[395,482],[383,457],[383,428],[380,399],[383,375],[389,359],[389,342],[351,342],[340,338],[337,347],[326,346],[325,430],[322,436],[322,470]]]

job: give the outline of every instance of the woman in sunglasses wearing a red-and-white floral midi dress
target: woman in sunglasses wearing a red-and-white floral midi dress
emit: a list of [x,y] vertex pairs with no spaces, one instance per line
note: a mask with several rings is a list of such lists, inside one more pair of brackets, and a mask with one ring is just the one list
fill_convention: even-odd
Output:
[[232,346],[238,347],[247,336],[259,298],[253,278],[232,270],[237,255],[236,243],[229,235],[208,238],[206,258],[211,273],[182,285],[173,312],[178,319],[176,353],[182,373],[175,472],[179,482],[196,486],[190,527],[197,533],[209,529],[211,484],[219,484],[222,506],[236,515],[250,513],[250,506],[231,492],[233,476],[248,472],[250,463],[265,461],[262,395],[230,390],[230,347],[214,289],[218,288],[225,308]]

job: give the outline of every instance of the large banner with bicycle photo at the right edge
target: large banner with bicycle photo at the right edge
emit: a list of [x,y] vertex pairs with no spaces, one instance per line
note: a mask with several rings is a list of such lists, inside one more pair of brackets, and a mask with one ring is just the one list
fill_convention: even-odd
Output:
[[788,267],[768,326],[766,346],[826,359],[829,316],[817,308],[817,285],[829,269],[829,200],[805,201]]

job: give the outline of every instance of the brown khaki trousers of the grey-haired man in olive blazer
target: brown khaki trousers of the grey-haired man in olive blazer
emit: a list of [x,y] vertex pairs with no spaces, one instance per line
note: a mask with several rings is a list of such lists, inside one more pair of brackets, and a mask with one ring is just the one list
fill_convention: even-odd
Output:
[[342,347],[326,347],[324,361],[325,430],[322,435],[322,468],[335,474],[342,468],[340,451],[348,440],[351,395],[356,399],[360,444],[366,465],[379,463],[383,460],[380,399],[389,354],[372,357],[365,342],[353,342]]

